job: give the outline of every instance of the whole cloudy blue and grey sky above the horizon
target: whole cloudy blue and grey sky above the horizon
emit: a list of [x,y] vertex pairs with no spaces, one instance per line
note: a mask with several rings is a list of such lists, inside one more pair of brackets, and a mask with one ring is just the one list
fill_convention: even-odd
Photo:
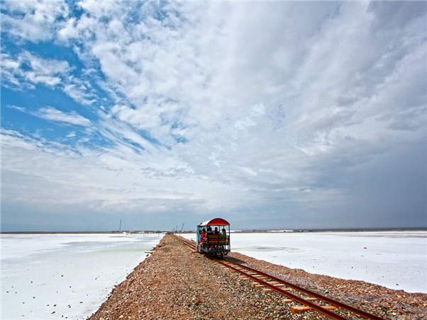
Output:
[[427,227],[426,1],[1,1],[1,231]]

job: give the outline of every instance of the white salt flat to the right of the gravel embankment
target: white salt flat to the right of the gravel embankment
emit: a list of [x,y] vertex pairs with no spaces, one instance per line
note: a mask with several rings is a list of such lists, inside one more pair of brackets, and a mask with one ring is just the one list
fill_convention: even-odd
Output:
[[427,232],[231,234],[231,251],[309,273],[427,293]]

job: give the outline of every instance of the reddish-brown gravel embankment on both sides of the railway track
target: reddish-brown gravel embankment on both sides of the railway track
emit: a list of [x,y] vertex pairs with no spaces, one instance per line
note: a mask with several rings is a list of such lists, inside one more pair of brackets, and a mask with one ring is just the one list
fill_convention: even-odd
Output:
[[[228,257],[385,319],[427,319],[425,294],[312,275],[240,253]],[[250,282],[167,235],[89,319],[328,319],[314,311],[293,315],[295,302]]]

